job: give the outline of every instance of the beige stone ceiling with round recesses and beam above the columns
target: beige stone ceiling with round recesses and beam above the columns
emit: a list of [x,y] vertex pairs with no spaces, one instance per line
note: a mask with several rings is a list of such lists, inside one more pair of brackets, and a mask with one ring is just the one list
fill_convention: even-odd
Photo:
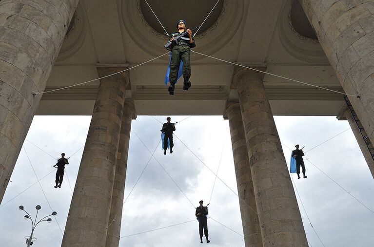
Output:
[[[147,0],[167,33],[177,20],[200,25],[217,0]],[[47,90],[98,78],[97,67],[128,68],[167,51],[162,26],[145,0],[81,0]],[[342,91],[298,0],[220,0],[198,31],[195,51],[266,72]],[[129,70],[126,97],[138,115],[222,115],[235,66],[191,54],[192,88],[177,84],[171,96],[164,85],[165,55]],[[37,114],[91,114],[99,81],[44,94]],[[337,115],[339,94],[265,75],[276,115]]]

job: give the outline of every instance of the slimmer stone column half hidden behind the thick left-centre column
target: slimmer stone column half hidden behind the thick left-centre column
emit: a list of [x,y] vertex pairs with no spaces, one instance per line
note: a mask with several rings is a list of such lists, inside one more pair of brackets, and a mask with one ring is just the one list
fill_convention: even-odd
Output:
[[125,100],[121,133],[119,136],[119,147],[117,152],[116,174],[112,192],[112,203],[108,233],[106,236],[106,247],[118,247],[119,233],[121,230],[123,196],[125,192],[127,156],[129,153],[129,142],[131,132],[131,120],[135,119],[135,108],[133,101]]

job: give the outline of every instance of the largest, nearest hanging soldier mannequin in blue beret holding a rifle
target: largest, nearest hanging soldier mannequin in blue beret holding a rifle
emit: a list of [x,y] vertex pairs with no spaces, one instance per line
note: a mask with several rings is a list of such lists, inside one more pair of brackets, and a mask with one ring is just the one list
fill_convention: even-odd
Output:
[[178,43],[173,42],[174,37],[183,33],[186,30],[186,22],[184,20],[179,20],[177,23],[178,32],[172,33],[170,35],[170,42],[173,43],[172,57],[170,62],[170,87],[169,93],[170,95],[174,95],[174,87],[177,82],[178,77],[178,70],[180,60],[183,61],[183,90],[187,91],[191,87],[191,82],[188,80],[191,76],[191,64],[190,64],[190,48],[194,48],[196,46],[195,40],[192,36],[192,31],[187,29],[187,37],[182,37]]

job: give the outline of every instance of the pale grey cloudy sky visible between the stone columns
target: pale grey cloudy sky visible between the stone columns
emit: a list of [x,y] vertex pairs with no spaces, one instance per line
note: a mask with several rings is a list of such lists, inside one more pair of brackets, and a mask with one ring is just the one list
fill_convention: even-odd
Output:
[[[164,122],[166,117],[155,116],[155,118]],[[132,123],[125,198],[151,157],[142,144],[143,141],[152,152],[157,148],[156,159],[194,205],[191,205],[157,161],[152,158],[124,205],[120,234],[122,238],[119,246],[201,246],[194,206],[198,206],[198,201],[202,199],[205,204],[210,201],[209,213],[213,219],[239,233],[209,219],[211,240],[209,245],[244,247],[236,195],[218,179],[212,190],[215,175],[197,159],[197,157],[201,159],[215,172],[219,166],[218,176],[230,188],[237,191],[228,121],[223,120],[221,116],[192,116],[187,119],[186,116],[172,116],[173,122],[185,120],[176,126],[173,154],[163,155],[161,147],[157,147],[160,124],[155,118],[138,116]],[[60,246],[62,234],[59,227],[63,231],[66,224],[83,151],[83,149],[79,152],[77,150],[84,145],[90,119],[90,116],[34,117],[26,137],[28,141],[25,141],[24,149],[20,152],[11,177],[12,182],[9,183],[0,206],[0,246],[22,246],[25,244],[24,236],[30,234],[31,222],[23,219],[24,212],[19,211],[18,206],[23,205],[30,214],[35,215],[35,206],[39,204],[41,206],[39,216],[51,213],[25,151],[39,179],[52,172],[43,178],[40,184],[52,209],[58,212],[52,223],[42,222],[38,225],[34,233],[38,240],[34,246]],[[287,147],[293,148],[298,143],[300,146],[305,146],[304,150],[308,151],[349,129],[347,121],[337,121],[335,117],[277,116],[275,120],[288,164],[291,151]],[[52,166],[61,152],[65,152],[67,157],[74,152],[77,153],[69,160],[70,165],[65,171],[62,188],[55,189],[53,188],[55,170]],[[296,186],[306,210],[305,212],[300,198],[297,197],[310,246],[323,245],[311,228],[306,213],[326,247],[373,246],[374,213],[369,209],[374,211],[374,180],[352,131],[349,129],[306,152],[306,158],[308,178],[297,180],[294,175],[294,187]],[[24,191],[31,185],[33,186],[30,189]],[[21,193],[22,191],[24,192]],[[132,235],[188,221],[192,222]]]

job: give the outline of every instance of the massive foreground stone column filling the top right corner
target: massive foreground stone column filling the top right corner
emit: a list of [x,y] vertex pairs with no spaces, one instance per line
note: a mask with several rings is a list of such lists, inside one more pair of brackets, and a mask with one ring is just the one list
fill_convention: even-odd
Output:
[[374,1],[300,0],[370,139],[374,140]]

